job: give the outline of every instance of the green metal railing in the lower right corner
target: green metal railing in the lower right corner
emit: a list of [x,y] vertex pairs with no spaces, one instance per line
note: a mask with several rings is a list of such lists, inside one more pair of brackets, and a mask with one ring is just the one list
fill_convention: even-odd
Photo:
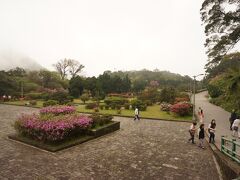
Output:
[[236,139],[221,137],[221,152],[229,156],[232,160],[240,163],[240,143]]

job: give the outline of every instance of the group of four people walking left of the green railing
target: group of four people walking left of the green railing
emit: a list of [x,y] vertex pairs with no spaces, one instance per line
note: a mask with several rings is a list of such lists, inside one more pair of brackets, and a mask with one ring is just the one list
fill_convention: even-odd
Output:
[[[204,129],[204,114],[201,107],[198,110],[198,118],[200,126],[197,128],[197,122],[193,122],[189,129],[190,139],[189,142],[195,144],[194,137],[197,132],[199,138],[199,147],[204,149],[204,138],[205,138],[205,129]],[[211,123],[208,125],[208,133],[209,133],[209,143],[215,143],[215,131],[216,131],[216,121],[212,119]]]

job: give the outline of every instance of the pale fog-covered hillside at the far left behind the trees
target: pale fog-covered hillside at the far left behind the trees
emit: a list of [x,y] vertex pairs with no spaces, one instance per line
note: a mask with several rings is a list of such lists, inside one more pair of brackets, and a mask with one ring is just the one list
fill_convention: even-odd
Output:
[[34,59],[13,51],[0,51],[0,70],[21,67],[26,70],[40,70],[43,67]]

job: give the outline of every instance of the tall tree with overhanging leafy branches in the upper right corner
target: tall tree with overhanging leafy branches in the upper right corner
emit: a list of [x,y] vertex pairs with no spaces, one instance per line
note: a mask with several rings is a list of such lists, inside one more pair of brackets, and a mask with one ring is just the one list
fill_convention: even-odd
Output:
[[[212,68],[221,61],[240,40],[240,0],[204,0],[202,21],[207,36],[205,46]],[[229,8],[229,6],[231,8]]]

